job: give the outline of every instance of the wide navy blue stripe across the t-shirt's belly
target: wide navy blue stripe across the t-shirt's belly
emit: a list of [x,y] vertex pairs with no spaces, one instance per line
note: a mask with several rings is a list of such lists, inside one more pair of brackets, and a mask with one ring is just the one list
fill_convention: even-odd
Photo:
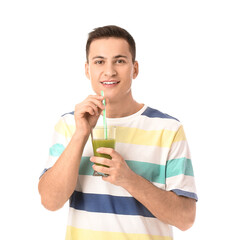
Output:
[[70,207],[88,212],[140,215],[154,218],[147,208],[133,197],[119,197],[75,191],[70,198]]

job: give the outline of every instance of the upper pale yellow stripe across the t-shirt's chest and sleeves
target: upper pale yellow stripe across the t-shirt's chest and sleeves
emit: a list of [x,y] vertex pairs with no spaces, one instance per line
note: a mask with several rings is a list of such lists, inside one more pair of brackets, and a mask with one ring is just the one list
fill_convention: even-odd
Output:
[[[75,131],[75,125],[67,125],[64,121],[60,120],[55,126],[55,131],[67,138],[70,138]],[[173,142],[178,142],[185,139],[183,127],[180,127],[178,131],[172,131],[167,129],[143,130],[139,128],[118,126],[116,142],[170,147]]]

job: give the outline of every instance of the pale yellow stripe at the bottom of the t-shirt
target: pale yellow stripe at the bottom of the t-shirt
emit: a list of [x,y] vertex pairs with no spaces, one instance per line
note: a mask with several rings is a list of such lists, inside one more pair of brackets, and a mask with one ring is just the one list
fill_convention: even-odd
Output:
[[172,237],[155,236],[148,234],[104,232],[79,229],[67,226],[66,240],[172,240]]

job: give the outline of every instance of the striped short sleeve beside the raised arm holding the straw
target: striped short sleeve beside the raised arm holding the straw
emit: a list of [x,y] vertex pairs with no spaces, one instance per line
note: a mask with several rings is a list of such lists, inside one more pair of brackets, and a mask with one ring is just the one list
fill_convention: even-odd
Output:
[[40,175],[40,178],[48,169],[50,169],[55,164],[57,159],[65,150],[66,146],[68,145],[70,135],[70,127],[65,121],[65,118],[61,117],[54,127],[54,133],[49,148],[49,156],[45,163],[44,170]]

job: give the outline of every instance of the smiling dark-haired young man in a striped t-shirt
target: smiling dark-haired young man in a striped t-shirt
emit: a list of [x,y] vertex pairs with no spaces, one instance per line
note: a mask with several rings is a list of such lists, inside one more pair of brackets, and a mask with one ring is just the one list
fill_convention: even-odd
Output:
[[[171,225],[181,230],[192,226],[197,200],[182,125],[133,99],[138,62],[127,31],[95,29],[86,54],[86,76],[96,95],[55,126],[39,182],[42,204],[57,210],[70,199],[67,240],[172,239]],[[104,98],[108,125],[117,127],[117,143],[115,150],[99,152],[111,160],[94,157],[89,138],[91,129],[102,125]],[[93,170],[108,176],[92,176]]]

